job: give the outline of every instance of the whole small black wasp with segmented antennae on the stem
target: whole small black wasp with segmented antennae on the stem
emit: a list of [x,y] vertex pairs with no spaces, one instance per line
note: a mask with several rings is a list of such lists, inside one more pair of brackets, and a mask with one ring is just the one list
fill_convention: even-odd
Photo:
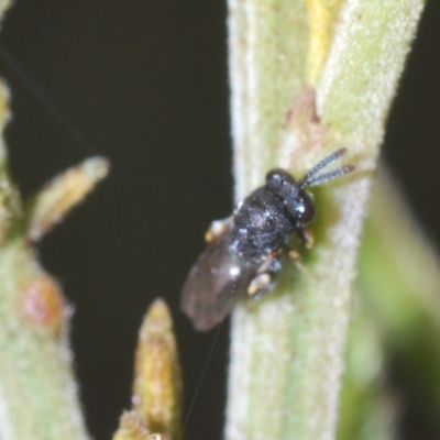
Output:
[[234,213],[212,222],[207,249],[185,283],[182,308],[196,330],[218,324],[243,296],[258,297],[273,290],[282,256],[293,233],[311,248],[307,226],[315,218],[315,202],[306,188],[351,172],[351,165],[318,175],[345,153],[338,150],[296,180],[284,169],[266,175],[264,186],[239,204]]

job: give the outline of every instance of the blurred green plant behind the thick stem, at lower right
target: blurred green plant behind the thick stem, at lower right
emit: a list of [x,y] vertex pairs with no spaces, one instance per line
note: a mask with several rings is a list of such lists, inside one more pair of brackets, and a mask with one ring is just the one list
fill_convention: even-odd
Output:
[[[395,420],[408,404],[426,432],[439,432],[439,266],[396,184],[380,168],[359,255],[338,439],[395,439]],[[398,389],[384,381],[391,360]]]

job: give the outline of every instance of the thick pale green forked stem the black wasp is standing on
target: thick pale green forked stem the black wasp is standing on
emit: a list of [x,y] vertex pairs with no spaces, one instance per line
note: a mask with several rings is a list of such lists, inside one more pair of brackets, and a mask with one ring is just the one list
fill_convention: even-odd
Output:
[[420,0],[229,1],[237,199],[274,166],[300,177],[341,146],[356,170],[315,191],[307,271],[286,262],[276,292],[233,312],[228,440],[336,438],[361,231],[422,8]]

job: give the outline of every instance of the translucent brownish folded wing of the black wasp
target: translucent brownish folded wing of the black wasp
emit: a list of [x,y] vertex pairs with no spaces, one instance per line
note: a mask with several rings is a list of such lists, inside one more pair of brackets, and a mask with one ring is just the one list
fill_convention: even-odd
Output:
[[198,331],[209,330],[226,318],[258,268],[229,251],[229,233],[230,229],[208,243],[184,285],[180,306]]

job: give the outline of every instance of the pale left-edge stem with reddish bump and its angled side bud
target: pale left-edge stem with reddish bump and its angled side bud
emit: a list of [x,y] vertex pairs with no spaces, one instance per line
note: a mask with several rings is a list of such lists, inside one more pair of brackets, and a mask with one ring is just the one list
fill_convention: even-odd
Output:
[[[0,2],[1,16],[9,7]],[[8,121],[9,90],[0,84],[0,438],[85,440],[68,342],[72,308],[35,245],[107,175],[108,162],[91,157],[22,200],[9,174]]]

